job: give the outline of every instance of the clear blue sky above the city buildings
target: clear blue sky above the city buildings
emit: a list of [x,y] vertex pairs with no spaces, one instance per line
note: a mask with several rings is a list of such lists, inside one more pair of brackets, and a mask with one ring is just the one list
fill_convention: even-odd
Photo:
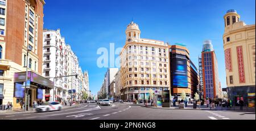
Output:
[[107,70],[97,67],[97,49],[109,49],[109,43],[115,43],[115,48],[123,47],[125,29],[132,18],[139,24],[142,38],[187,45],[196,66],[204,40],[212,40],[222,87],[226,87],[223,16],[234,9],[246,24],[255,24],[255,0],[45,1],[44,28],[60,28],[66,43],[79,57],[82,70],[88,70],[93,94],[100,90]]

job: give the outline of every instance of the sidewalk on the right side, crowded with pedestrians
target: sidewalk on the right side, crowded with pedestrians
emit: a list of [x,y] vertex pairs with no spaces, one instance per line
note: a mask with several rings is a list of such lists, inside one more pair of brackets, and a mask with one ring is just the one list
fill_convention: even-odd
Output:
[[[145,105],[143,105],[142,107],[145,107]],[[148,105],[147,108],[155,108],[155,109],[184,109],[184,110],[212,110],[212,111],[249,111],[249,112],[255,112],[255,108],[251,108],[251,107],[243,107],[243,110],[240,110],[240,107],[232,107],[232,108],[227,108],[227,107],[216,107],[216,108],[207,108],[207,105],[197,105],[196,109],[193,109],[193,104],[188,104],[188,107],[184,107],[184,108],[179,108],[179,105],[176,105],[176,107],[153,107],[151,105]]]

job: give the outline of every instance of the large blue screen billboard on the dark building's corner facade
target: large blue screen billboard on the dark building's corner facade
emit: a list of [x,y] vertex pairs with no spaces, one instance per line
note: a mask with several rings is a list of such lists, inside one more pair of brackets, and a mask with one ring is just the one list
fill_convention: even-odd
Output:
[[172,86],[188,87],[188,66],[187,60],[182,58],[173,58],[172,60]]

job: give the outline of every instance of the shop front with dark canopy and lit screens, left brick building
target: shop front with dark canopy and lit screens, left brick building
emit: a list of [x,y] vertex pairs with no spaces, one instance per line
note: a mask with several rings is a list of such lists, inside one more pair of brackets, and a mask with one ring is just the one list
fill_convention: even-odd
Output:
[[[23,108],[25,103],[25,91],[27,92],[27,103],[30,107],[33,107],[33,102],[43,102],[43,98],[49,98],[49,94],[43,94],[43,92],[49,92],[53,89],[53,82],[49,79],[42,77],[33,71],[27,73],[27,88],[26,86],[26,72],[14,74],[14,108]],[[44,91],[43,91],[44,90]],[[48,99],[46,99],[48,101]]]

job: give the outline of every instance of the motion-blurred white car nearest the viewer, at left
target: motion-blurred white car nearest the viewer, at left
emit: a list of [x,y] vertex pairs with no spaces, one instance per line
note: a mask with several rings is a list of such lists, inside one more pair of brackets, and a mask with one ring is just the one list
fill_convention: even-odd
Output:
[[61,109],[62,105],[59,102],[49,102],[36,107],[36,112],[60,111]]

